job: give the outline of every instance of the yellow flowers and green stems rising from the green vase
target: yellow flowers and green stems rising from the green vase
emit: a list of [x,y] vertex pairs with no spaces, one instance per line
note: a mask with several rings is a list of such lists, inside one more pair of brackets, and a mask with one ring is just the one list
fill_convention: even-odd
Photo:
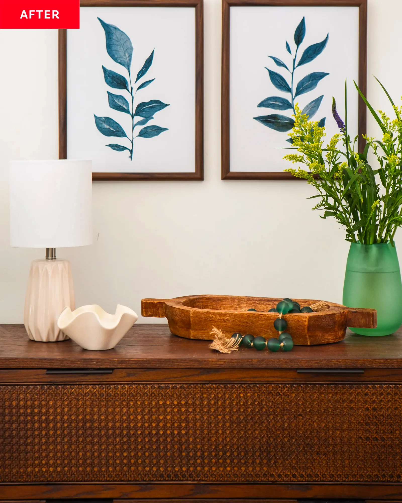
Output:
[[[306,179],[317,189],[318,194],[312,198],[318,198],[319,202],[313,209],[324,210],[321,218],[334,217],[345,228],[347,241],[361,244],[390,241],[393,246],[396,229],[402,225],[402,107],[395,106],[379,83],[392,104],[396,116],[393,120],[380,110],[378,115],[356,82],[355,86],[379,124],[382,140],[364,135],[367,142],[364,151],[355,150],[358,136],[352,141],[348,134],[345,83],[345,122],[333,98],[332,113],[340,133],[325,147],[325,127],[319,122],[309,122],[308,115],[295,105],[294,126],[289,136],[298,153],[289,153],[284,158],[305,164],[307,169],[284,171]],[[375,159],[375,169],[368,162],[369,153],[373,154],[370,159]]]

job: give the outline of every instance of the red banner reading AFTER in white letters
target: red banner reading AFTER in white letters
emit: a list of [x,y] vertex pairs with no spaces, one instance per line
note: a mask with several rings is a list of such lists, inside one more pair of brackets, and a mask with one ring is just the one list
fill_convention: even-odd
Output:
[[0,0],[0,28],[79,28],[79,0]]

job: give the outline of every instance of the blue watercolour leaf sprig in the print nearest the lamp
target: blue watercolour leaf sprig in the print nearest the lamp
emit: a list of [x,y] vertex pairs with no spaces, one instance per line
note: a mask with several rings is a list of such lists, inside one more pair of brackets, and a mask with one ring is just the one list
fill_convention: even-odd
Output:
[[[102,66],[105,82],[110,88],[120,89],[123,91],[127,91],[128,98],[127,100],[124,96],[119,94],[108,93],[108,101],[111,109],[116,110],[118,112],[123,112],[125,114],[130,115],[131,117],[131,131],[130,134],[126,134],[123,127],[116,122],[111,117],[98,117],[94,115],[95,118],[95,126],[100,133],[105,136],[116,136],[118,138],[127,138],[131,145],[129,147],[125,145],[119,145],[118,143],[109,143],[106,145],[110,147],[112,150],[116,152],[124,152],[127,150],[129,152],[130,161],[133,160],[133,150],[134,150],[134,140],[136,138],[153,138],[154,136],[158,136],[164,131],[168,131],[168,128],[160,127],[156,125],[143,127],[138,134],[134,134],[134,129],[137,126],[145,126],[149,121],[154,118],[154,115],[168,107],[167,103],[163,103],[160,100],[150,100],[148,102],[141,102],[134,108],[134,98],[137,91],[148,87],[155,78],[151,78],[150,80],[145,80],[139,84],[139,86],[135,89],[136,83],[142,79],[142,77],[148,72],[150,69],[155,49],[151,52],[151,54],[146,58],[145,63],[142,68],[138,71],[137,77],[135,79],[134,84],[131,79],[131,60],[133,57],[133,45],[131,43],[130,38],[120,30],[117,26],[106,23],[100,18],[97,18],[99,23],[102,25],[102,28],[105,31],[106,37],[106,50],[109,56],[116,63],[122,65],[128,72],[128,79],[117,73],[113,70],[109,70],[105,66]],[[135,117],[140,117],[139,121],[134,122]],[[137,130],[138,131],[138,130]],[[127,141],[127,140],[126,140]]]

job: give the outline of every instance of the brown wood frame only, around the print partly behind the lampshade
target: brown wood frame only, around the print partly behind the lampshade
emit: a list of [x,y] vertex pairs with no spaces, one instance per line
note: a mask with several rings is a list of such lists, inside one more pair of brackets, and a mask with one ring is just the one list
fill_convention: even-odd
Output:
[[[92,180],[204,180],[203,0],[80,0],[80,7],[195,8],[195,172],[92,173]],[[59,159],[67,158],[67,30],[59,30]]]

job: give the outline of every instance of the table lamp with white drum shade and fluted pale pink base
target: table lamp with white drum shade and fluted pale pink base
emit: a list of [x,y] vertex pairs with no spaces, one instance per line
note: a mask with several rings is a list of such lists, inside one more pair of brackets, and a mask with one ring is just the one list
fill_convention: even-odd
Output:
[[56,248],[92,243],[90,160],[10,162],[11,246],[46,248],[34,260],[25,297],[24,325],[33,341],[68,339],[57,326],[64,307],[75,309],[71,265]]

